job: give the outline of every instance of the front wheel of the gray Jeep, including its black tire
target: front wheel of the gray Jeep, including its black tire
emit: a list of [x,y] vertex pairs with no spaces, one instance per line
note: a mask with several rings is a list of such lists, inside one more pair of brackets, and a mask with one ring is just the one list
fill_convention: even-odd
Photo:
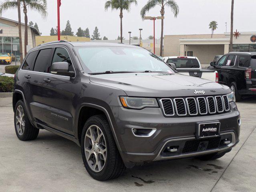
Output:
[[[93,136],[91,132],[93,132]],[[100,138],[96,140],[96,136],[97,138],[100,136]],[[106,153],[103,152],[104,150]],[[117,178],[125,170],[109,123],[103,115],[92,116],[85,122],[81,136],[81,152],[87,172],[96,180],[104,181]],[[99,158],[98,164],[95,163],[96,156],[97,159]]]

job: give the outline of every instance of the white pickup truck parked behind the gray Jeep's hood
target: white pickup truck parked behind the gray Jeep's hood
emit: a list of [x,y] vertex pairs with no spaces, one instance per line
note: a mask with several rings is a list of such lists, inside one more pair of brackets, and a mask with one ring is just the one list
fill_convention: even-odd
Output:
[[162,60],[167,64],[175,64],[176,71],[180,74],[187,76],[200,77],[208,79],[214,82],[219,81],[219,76],[217,71],[204,70],[201,67],[200,61],[197,57],[189,56],[172,56],[172,57],[163,57]]

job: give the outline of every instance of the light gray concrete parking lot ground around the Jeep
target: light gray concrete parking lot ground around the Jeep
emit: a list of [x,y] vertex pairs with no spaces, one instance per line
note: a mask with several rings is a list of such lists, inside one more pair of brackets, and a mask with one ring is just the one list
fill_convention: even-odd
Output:
[[256,191],[256,97],[237,105],[240,142],[224,157],[155,162],[99,182],[87,174],[80,148],[72,141],[46,130],[36,140],[18,140],[12,98],[0,98],[0,191]]

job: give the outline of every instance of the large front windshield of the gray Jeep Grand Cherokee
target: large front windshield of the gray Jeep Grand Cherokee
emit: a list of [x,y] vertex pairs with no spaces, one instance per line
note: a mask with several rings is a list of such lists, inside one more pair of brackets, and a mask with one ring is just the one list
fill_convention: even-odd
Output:
[[84,70],[104,72],[167,72],[174,71],[153,53],[142,48],[117,46],[76,47]]

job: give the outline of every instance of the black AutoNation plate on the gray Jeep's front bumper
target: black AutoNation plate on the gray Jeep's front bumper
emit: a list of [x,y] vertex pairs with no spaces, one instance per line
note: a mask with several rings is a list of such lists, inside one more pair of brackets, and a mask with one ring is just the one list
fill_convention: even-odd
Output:
[[220,122],[199,123],[197,136],[199,138],[218,136],[220,134]]

